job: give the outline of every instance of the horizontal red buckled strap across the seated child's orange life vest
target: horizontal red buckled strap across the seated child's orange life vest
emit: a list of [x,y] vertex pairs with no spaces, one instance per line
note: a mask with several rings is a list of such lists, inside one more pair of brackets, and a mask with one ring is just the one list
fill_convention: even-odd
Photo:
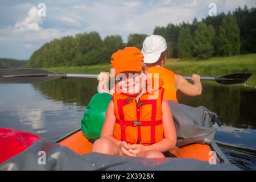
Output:
[[115,122],[121,126],[157,126],[162,124],[162,119],[158,121],[123,121],[121,119],[116,119]]

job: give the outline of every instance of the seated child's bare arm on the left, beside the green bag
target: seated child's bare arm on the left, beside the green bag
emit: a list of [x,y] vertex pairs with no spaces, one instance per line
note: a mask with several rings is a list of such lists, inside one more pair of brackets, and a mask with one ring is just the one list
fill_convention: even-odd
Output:
[[101,130],[101,138],[104,138],[104,137],[108,138],[112,140],[112,142],[120,146],[122,142],[113,137],[114,128],[115,128],[114,103],[113,101],[111,101],[109,102],[108,109],[106,110],[105,120]]

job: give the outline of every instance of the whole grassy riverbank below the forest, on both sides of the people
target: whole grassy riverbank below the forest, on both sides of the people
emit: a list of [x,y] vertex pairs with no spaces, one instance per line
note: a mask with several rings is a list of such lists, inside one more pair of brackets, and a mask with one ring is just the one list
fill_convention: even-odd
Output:
[[[197,73],[201,76],[216,76],[216,74],[229,74],[234,72],[256,73],[256,53],[232,57],[212,57],[207,60],[168,59],[164,67],[180,75]],[[110,71],[110,64],[45,69],[61,73],[100,73],[101,71]]]

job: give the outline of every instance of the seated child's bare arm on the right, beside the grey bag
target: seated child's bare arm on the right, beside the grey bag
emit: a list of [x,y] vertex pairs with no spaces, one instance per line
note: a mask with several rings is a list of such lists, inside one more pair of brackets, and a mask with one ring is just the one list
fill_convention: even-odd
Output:
[[172,119],[171,108],[166,100],[162,103],[163,110],[163,133],[164,138],[158,143],[154,143],[150,146],[145,146],[145,150],[158,150],[160,152],[169,151],[176,145],[176,129],[174,125],[174,120]]

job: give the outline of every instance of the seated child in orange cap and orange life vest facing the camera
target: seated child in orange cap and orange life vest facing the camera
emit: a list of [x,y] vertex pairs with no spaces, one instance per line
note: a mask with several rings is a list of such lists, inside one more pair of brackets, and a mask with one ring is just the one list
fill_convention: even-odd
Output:
[[94,142],[92,152],[142,158],[168,156],[176,144],[176,130],[170,106],[163,100],[163,81],[156,80],[155,84],[155,80],[146,79],[138,48],[119,50],[111,61],[115,77],[123,76],[115,84],[101,138]]

